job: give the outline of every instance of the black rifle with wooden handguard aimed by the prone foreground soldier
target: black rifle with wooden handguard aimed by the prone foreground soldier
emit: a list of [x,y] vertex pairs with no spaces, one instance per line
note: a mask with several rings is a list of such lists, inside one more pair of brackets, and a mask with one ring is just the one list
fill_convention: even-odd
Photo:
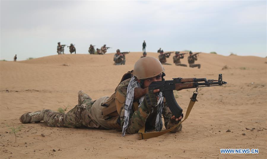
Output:
[[168,104],[171,113],[178,118],[182,115],[183,110],[177,104],[173,94],[173,90],[179,91],[182,89],[189,88],[198,89],[198,87],[222,86],[223,84],[227,84],[227,82],[222,81],[222,74],[219,74],[218,80],[207,80],[206,78],[173,78],[173,80],[169,81],[152,82],[148,86],[148,91],[160,89],[160,92],[163,93],[163,97],[166,98],[166,103]]

